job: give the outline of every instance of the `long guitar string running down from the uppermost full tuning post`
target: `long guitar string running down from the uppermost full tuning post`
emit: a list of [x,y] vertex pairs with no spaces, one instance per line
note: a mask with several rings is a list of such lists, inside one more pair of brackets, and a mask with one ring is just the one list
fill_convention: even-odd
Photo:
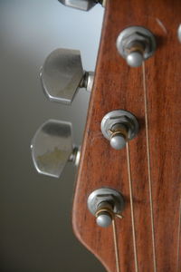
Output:
[[145,126],[146,126],[146,139],[147,139],[148,187],[149,187],[149,205],[150,205],[150,212],[151,212],[153,262],[154,262],[154,272],[157,272],[153,198],[152,198],[152,181],[151,181],[151,167],[150,167],[150,149],[149,149],[149,135],[148,135],[148,91],[147,91],[147,83],[146,83],[146,69],[145,69],[144,62],[142,63],[142,72],[143,72],[143,90],[144,90],[144,105],[145,105]]

